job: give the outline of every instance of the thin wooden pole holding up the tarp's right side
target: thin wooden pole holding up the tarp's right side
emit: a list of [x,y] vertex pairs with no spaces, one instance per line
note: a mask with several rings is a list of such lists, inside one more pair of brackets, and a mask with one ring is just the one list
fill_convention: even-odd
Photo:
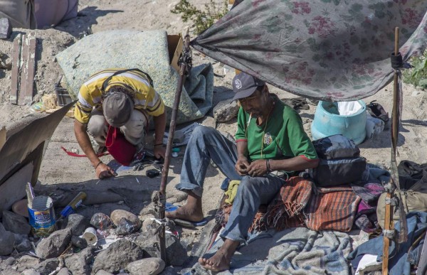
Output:
[[[399,27],[394,29],[394,56],[399,55]],[[396,146],[397,146],[397,136],[399,132],[399,79],[397,72],[394,72],[394,90],[393,90],[393,110],[391,117],[393,117],[392,126],[391,126],[391,146],[394,151],[394,156],[396,156]],[[394,188],[393,188],[394,189]],[[393,192],[387,192],[387,200],[390,202],[393,197]],[[390,203],[386,203],[386,212],[384,215],[384,230],[394,230],[393,222],[393,206]],[[384,234],[384,247],[383,247],[383,264],[382,264],[382,274],[389,274],[389,246],[390,239]]]

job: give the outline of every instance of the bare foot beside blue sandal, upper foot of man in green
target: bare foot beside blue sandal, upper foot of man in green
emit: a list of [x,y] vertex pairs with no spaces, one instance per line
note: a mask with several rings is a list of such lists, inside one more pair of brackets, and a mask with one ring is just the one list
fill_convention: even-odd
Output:
[[185,205],[172,212],[166,212],[169,219],[188,220],[190,222],[199,222],[203,219],[203,210],[201,209],[201,198],[189,192]]

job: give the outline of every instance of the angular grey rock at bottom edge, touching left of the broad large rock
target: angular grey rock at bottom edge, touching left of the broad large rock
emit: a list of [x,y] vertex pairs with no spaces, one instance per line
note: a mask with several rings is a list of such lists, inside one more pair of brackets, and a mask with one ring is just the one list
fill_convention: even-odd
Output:
[[65,259],[65,266],[73,275],[90,275],[90,264],[95,256],[96,247],[87,247]]

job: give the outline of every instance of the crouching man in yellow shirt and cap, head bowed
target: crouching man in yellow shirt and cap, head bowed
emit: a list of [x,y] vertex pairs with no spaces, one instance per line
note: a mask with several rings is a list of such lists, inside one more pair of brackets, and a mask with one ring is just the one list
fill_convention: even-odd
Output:
[[149,75],[138,69],[107,69],[89,77],[80,87],[74,117],[75,138],[98,178],[115,176],[115,172],[100,161],[89,135],[100,147],[105,146],[109,126],[120,128],[125,139],[139,151],[144,146],[149,119],[153,117],[154,156],[164,158],[164,103]]

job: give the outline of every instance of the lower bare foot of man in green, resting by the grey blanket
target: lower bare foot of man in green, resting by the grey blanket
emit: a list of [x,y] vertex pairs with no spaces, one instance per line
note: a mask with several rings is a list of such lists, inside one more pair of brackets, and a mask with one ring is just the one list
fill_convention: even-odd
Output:
[[218,251],[209,259],[199,258],[199,264],[205,269],[210,269],[214,272],[230,269],[231,257],[236,252],[240,242],[226,239],[224,244]]

